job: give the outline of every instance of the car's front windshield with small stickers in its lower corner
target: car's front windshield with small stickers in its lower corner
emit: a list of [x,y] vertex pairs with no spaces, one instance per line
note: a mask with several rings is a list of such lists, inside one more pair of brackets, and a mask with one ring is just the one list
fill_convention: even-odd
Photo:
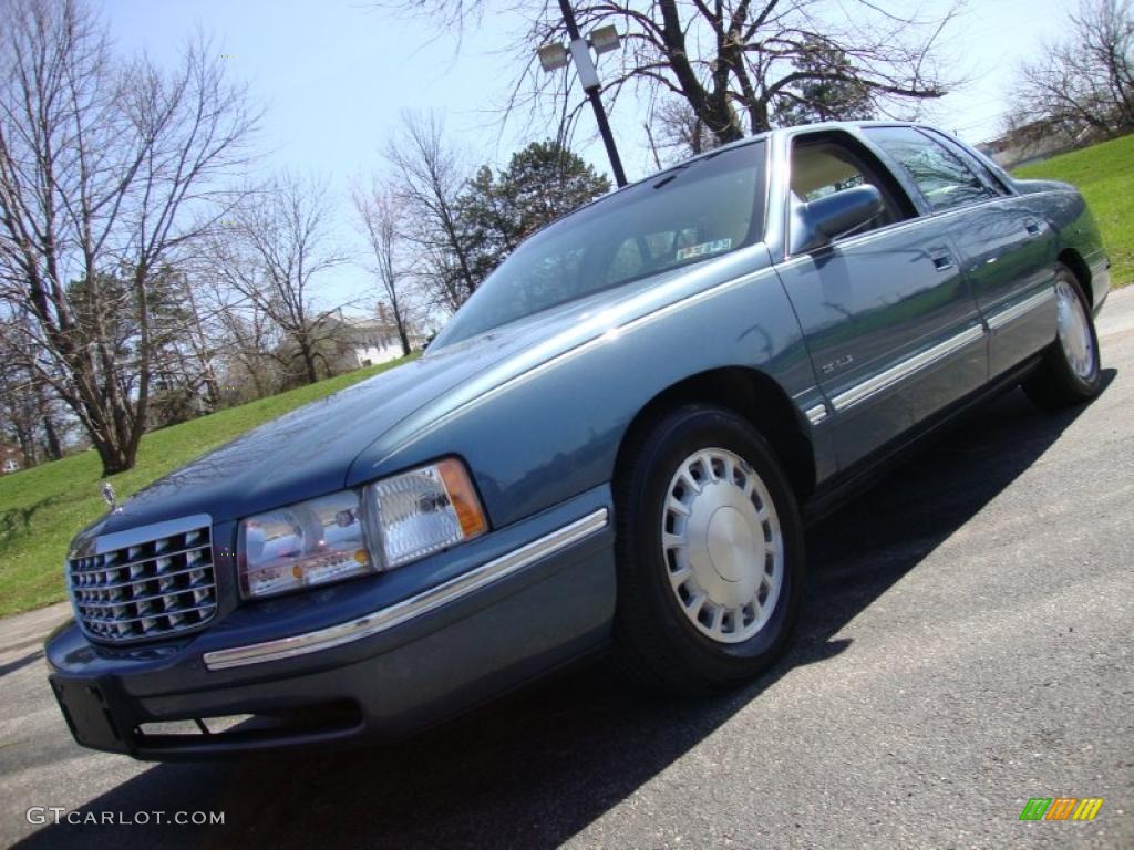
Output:
[[763,163],[762,141],[720,151],[560,219],[484,280],[434,347],[756,241]]

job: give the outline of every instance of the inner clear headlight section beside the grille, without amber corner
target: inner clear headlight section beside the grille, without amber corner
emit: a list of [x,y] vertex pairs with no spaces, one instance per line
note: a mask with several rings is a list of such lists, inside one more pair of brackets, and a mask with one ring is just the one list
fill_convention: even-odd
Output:
[[358,494],[333,493],[240,522],[237,564],[245,596],[273,596],[373,572]]

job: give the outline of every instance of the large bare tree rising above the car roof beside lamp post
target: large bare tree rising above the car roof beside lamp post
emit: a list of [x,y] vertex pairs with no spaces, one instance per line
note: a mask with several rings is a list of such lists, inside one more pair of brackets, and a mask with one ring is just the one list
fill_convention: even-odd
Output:
[[[481,0],[393,3],[464,24],[481,15]],[[941,33],[957,7],[908,11],[885,0],[583,0],[573,3],[578,27],[615,25],[619,53],[603,58],[608,101],[627,85],[653,99],[671,95],[719,142],[769,129],[786,104],[809,105],[805,84],[850,84],[875,108],[946,93],[937,60]],[[517,44],[519,68],[507,111],[569,97],[572,73],[545,75],[534,48],[559,42],[566,27],[557,3],[516,0],[528,22]],[[827,95],[823,95],[824,97]],[[582,101],[575,101],[577,114]]]

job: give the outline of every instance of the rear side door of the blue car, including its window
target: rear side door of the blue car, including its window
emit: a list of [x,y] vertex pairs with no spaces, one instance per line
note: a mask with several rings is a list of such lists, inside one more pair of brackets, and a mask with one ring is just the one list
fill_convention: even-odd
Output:
[[1053,267],[1058,240],[1030,201],[963,145],[913,127],[869,127],[865,136],[894,160],[956,244],[989,329],[989,371],[997,376],[1055,337]]

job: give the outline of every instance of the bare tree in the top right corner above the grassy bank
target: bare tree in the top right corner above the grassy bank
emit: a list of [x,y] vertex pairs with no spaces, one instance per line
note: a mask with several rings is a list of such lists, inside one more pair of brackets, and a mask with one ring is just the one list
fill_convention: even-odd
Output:
[[[1073,141],[1134,129],[1134,5],[1083,0],[1067,16],[1066,36],[1019,68],[1008,129],[1030,128]],[[1041,126],[1036,126],[1041,125]]]

